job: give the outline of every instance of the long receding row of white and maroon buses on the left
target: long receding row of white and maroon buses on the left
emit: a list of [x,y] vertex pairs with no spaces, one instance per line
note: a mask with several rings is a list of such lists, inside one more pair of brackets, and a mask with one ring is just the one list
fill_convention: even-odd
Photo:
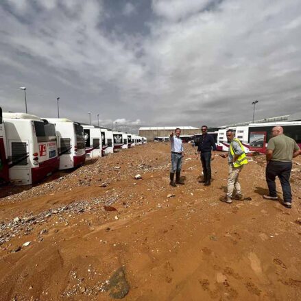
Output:
[[135,134],[0,108],[0,181],[34,184],[54,171],[83,165],[86,158],[146,142]]

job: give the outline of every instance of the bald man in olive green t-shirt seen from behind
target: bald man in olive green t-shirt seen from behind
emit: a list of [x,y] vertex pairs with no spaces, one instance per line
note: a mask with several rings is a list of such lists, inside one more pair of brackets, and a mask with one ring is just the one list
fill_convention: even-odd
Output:
[[300,147],[293,139],[283,134],[283,128],[272,129],[272,138],[267,143],[267,168],[265,178],[269,187],[269,195],[263,195],[267,200],[278,200],[276,193],[276,176],[278,176],[283,192],[284,205],[291,208],[291,176],[292,159],[300,154]]

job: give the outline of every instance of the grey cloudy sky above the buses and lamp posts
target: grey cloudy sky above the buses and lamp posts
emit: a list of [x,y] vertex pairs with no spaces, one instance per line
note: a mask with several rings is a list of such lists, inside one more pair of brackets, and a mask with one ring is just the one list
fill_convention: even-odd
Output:
[[101,125],[301,111],[300,0],[1,0],[0,105]]

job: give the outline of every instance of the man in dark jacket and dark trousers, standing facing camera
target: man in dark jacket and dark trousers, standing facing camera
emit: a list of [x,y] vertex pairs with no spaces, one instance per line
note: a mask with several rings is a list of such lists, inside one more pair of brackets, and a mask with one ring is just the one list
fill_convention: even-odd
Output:
[[205,186],[209,186],[211,184],[211,160],[214,159],[215,152],[217,150],[213,136],[211,136],[207,132],[207,125],[202,125],[202,136],[200,136],[197,147],[197,152],[201,154],[204,173],[203,180],[200,180],[199,182],[204,183]]

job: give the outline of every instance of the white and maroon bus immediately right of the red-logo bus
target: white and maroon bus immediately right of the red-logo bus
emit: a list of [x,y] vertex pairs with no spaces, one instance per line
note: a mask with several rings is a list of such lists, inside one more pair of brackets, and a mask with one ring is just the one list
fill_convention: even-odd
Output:
[[60,169],[83,165],[86,160],[84,129],[79,123],[65,118],[47,118],[56,126]]

